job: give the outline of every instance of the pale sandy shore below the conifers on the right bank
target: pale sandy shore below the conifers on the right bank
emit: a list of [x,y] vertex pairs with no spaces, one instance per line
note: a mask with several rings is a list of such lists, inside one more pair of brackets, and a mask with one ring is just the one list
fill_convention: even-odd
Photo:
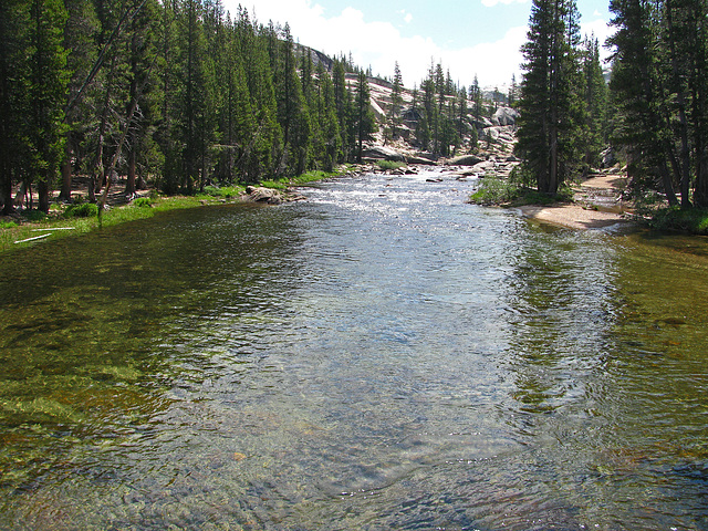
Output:
[[[622,210],[625,179],[617,175],[593,177],[575,188],[573,205],[524,206],[523,216],[570,229],[602,229],[617,223],[632,223]],[[600,208],[600,209],[597,209]]]

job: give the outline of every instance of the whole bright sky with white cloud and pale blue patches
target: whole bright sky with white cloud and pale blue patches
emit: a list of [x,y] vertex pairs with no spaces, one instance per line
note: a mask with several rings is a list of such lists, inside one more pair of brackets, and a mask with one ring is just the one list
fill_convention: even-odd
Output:
[[[521,80],[531,0],[222,0],[239,3],[260,23],[290,24],[293,39],[330,56],[351,53],[375,75],[393,79],[398,62],[404,85],[420,84],[440,62],[464,86],[477,75],[482,87]],[[581,33],[601,44],[611,33],[608,0],[577,0]],[[607,52],[605,52],[607,53]]]

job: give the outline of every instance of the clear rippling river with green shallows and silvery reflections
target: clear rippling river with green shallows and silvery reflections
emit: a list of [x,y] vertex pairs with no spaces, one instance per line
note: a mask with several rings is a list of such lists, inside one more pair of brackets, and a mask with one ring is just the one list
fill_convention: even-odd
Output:
[[0,529],[708,529],[707,240],[475,186],[1,256]]

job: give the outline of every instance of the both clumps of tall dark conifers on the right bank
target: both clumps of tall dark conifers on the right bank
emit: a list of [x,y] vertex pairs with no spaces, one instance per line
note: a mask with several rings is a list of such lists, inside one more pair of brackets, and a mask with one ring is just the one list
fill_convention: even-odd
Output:
[[597,43],[581,40],[575,0],[533,1],[518,105],[527,176],[555,192],[612,144],[638,191],[708,207],[708,2],[611,0],[610,10],[605,96]]

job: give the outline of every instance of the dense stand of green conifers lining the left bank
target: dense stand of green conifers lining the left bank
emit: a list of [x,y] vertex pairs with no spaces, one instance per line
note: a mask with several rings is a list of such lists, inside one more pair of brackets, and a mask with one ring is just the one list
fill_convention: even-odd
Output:
[[[296,53],[300,50],[300,53]],[[219,0],[0,2],[0,201],[34,186],[149,176],[168,194],[256,183],[361,158],[375,131],[364,72],[331,72],[288,25]],[[346,74],[358,74],[347,85]],[[104,187],[104,191],[105,191]]]

